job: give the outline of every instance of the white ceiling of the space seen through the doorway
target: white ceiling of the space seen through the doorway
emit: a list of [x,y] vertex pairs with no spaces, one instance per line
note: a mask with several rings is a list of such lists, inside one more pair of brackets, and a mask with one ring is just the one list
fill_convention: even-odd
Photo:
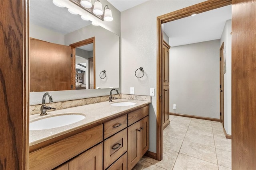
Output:
[[171,47],[220,39],[231,5],[164,23]]

